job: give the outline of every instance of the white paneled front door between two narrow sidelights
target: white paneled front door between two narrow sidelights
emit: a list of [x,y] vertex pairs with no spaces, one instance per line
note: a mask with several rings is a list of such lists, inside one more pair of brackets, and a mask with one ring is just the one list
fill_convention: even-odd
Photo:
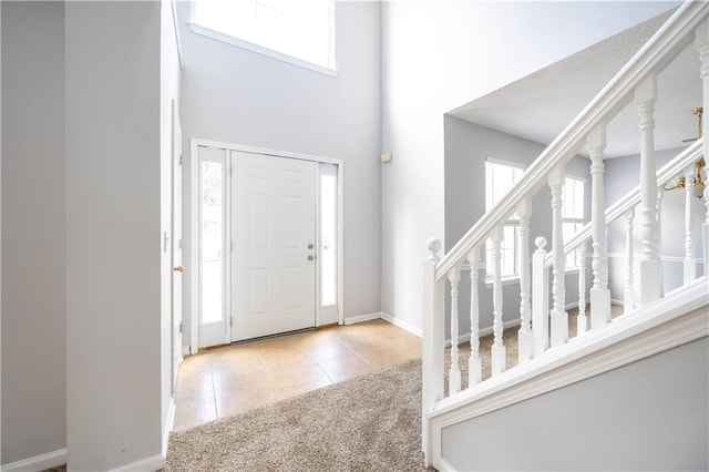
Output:
[[232,341],[316,325],[317,164],[232,151]]

